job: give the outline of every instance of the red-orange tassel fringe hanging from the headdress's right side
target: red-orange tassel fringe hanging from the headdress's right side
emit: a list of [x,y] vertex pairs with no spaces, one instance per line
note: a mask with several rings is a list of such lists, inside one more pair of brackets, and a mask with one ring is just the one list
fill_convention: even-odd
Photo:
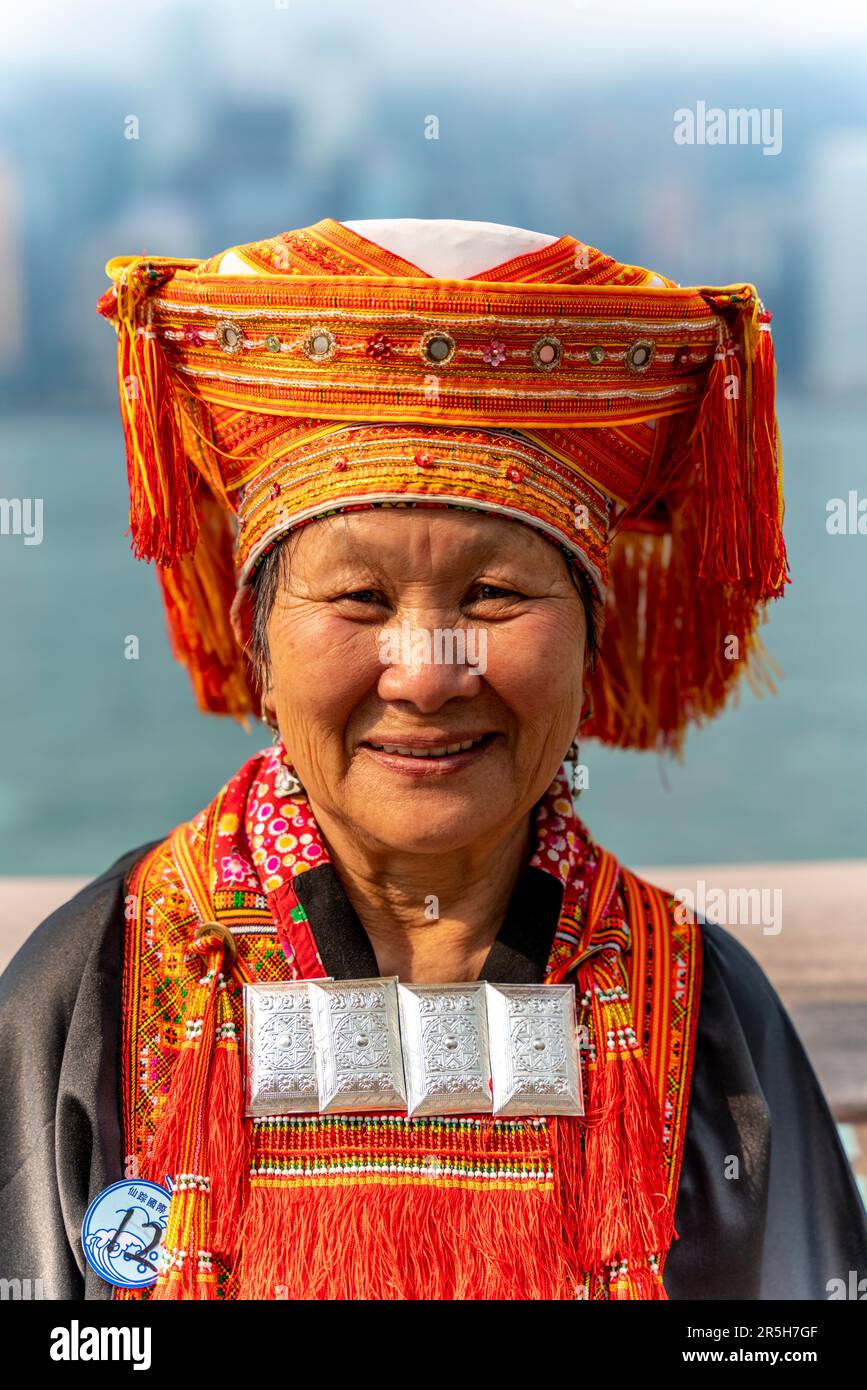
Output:
[[589,738],[677,752],[745,671],[774,689],[757,628],[789,575],[768,325],[754,300],[741,309],[697,414],[664,425],[664,477],[613,538]]

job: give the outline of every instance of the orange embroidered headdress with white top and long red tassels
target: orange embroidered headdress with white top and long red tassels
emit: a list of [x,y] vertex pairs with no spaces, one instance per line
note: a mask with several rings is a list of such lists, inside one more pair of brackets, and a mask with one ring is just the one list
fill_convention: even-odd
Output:
[[288,530],[463,506],[536,527],[604,599],[584,737],[679,746],[745,669],[768,680],[757,626],[788,582],[754,286],[493,224],[360,225],[107,267],[132,545],[200,706],[258,712],[229,614]]

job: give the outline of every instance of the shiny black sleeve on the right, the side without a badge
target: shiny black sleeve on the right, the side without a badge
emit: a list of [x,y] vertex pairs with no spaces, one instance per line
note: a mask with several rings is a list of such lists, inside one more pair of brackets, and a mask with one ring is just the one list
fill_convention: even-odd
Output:
[[[827,1300],[867,1275],[864,1207],[802,1042],[753,956],[704,924],[670,1298]],[[839,1291],[836,1294],[839,1297]]]

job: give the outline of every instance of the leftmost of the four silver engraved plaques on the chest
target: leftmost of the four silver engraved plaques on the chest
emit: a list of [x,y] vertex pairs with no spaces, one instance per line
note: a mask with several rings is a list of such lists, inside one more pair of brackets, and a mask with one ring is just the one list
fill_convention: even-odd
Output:
[[306,981],[245,984],[246,1115],[320,1108]]

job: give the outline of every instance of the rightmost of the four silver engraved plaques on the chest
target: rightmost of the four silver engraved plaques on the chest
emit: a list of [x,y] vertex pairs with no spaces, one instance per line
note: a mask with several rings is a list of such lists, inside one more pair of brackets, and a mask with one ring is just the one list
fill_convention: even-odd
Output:
[[584,1115],[574,984],[489,984],[495,1115]]

